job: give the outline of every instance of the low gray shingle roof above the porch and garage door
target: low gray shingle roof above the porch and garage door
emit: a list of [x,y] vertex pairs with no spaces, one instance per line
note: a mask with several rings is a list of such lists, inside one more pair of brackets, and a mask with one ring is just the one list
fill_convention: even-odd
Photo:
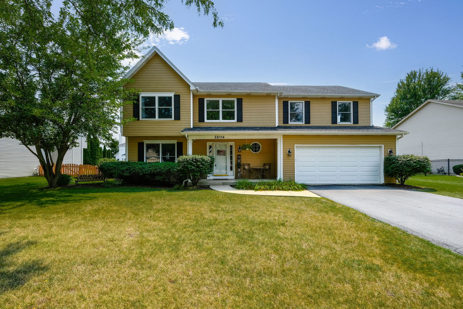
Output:
[[381,126],[194,126],[181,132],[405,132]]

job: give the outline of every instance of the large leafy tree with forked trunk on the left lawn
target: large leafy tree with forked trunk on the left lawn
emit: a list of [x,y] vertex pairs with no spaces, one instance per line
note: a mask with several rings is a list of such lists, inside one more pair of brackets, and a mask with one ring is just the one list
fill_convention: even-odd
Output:
[[[56,16],[51,0],[0,1],[0,138],[37,156],[50,187],[79,136],[111,141],[131,120],[119,115],[136,91],[122,87],[121,63],[150,34],[173,29],[166,1],[64,0]],[[222,25],[212,1],[182,2]]]

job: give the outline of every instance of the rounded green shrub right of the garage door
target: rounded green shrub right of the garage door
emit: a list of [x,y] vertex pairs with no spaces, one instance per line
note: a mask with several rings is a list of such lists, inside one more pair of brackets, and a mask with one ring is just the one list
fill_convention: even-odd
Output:
[[415,155],[390,156],[384,158],[384,174],[404,184],[413,175],[431,172],[431,160]]

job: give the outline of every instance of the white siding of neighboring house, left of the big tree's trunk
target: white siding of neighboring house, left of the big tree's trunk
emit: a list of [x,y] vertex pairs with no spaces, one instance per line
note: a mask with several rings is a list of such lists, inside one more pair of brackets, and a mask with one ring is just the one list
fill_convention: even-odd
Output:
[[0,178],[38,173],[38,158],[17,139],[0,139]]

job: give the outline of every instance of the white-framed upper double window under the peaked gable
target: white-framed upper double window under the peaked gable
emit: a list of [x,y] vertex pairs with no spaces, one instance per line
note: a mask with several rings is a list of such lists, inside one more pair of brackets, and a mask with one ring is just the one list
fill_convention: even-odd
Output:
[[141,119],[174,119],[174,93],[142,93],[140,95]]

